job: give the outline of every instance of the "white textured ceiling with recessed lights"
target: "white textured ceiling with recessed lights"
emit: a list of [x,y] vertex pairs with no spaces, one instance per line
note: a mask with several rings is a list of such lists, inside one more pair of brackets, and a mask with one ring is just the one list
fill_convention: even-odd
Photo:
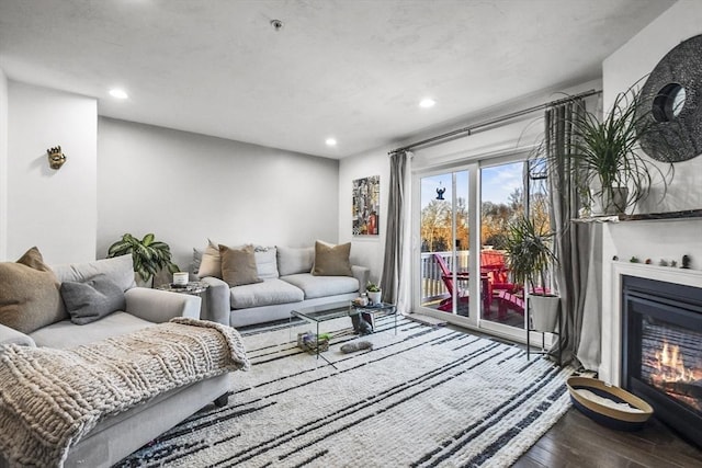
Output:
[[672,3],[0,0],[0,68],[100,115],[343,158],[598,78]]

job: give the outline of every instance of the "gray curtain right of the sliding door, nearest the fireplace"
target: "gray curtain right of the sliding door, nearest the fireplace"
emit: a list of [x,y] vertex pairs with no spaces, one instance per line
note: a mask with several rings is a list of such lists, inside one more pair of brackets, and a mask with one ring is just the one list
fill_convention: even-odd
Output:
[[578,113],[585,112],[585,101],[575,100],[546,110],[545,145],[548,160],[548,183],[552,205],[552,222],[555,229],[555,251],[558,265],[555,277],[561,295],[562,336],[551,352],[555,356],[558,349],[565,363],[573,362],[578,367],[577,352],[580,347],[588,270],[590,264],[591,226],[571,222],[580,209],[579,175],[577,161],[569,158],[576,136],[573,122]]

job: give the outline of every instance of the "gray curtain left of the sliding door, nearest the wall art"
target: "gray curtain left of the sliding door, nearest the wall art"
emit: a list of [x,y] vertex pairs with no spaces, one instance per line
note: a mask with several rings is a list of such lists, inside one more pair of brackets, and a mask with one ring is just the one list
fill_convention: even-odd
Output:
[[403,273],[403,252],[405,250],[404,208],[407,203],[405,178],[408,153],[399,151],[390,155],[390,182],[387,201],[387,227],[385,228],[385,256],[383,259],[383,301],[397,304],[399,296],[399,277]]

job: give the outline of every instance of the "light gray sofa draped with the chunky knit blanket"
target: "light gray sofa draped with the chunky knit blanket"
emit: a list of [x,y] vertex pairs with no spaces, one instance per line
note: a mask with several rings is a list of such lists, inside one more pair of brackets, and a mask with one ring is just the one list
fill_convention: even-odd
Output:
[[[61,283],[83,282],[105,274],[125,292],[124,310],[80,326],[61,320],[29,334],[0,324],[0,344],[65,349],[129,333],[173,317],[200,318],[200,297],[134,287],[131,255],[53,266],[52,270]],[[107,416],[71,447],[65,466],[109,467],[208,403],[217,400],[224,404],[228,390],[229,376],[223,374],[176,388],[145,404]],[[0,467],[4,466],[8,463],[0,457]]]

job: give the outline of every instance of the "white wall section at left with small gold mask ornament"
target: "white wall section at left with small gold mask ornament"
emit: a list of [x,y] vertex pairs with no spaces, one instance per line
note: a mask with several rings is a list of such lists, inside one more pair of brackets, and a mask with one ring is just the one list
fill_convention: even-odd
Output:
[[[32,246],[50,264],[94,259],[97,104],[9,81],[5,259]],[[68,160],[55,171],[46,150],[58,145]]]

